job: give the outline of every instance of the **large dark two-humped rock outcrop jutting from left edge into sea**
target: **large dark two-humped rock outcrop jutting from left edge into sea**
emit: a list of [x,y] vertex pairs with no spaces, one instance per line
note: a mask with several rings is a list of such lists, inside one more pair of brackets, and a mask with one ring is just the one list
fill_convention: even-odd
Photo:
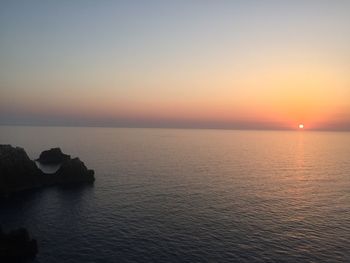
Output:
[[87,169],[79,158],[71,159],[57,149],[55,152],[65,156],[64,160],[55,173],[45,174],[23,148],[0,145],[0,196],[43,186],[94,182],[93,170]]

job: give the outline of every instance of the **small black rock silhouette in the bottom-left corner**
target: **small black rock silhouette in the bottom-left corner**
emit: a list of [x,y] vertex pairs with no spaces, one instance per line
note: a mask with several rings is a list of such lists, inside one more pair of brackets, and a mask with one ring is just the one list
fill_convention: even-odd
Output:
[[25,228],[4,233],[0,227],[0,262],[28,262],[38,253],[35,239]]

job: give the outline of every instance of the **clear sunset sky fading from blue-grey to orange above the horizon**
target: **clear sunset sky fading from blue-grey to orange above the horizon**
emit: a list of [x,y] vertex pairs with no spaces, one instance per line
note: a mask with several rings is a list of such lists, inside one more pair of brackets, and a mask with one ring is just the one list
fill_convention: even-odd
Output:
[[1,1],[0,124],[350,130],[350,1]]

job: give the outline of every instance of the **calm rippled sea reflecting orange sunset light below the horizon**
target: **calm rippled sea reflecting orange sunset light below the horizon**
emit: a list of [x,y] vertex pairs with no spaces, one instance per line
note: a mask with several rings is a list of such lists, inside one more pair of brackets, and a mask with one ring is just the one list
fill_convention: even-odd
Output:
[[350,133],[3,126],[0,143],[95,170],[0,203],[37,262],[350,262]]

